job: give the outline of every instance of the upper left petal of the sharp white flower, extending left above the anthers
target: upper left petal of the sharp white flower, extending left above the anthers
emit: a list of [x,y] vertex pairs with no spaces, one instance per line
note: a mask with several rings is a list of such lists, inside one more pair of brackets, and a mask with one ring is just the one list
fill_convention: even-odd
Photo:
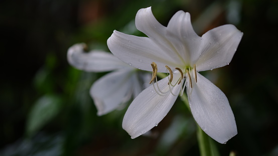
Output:
[[152,71],[151,63],[155,62],[158,72],[166,72],[165,65],[170,68],[179,67],[178,61],[170,57],[153,40],[147,37],[137,37],[114,31],[108,39],[110,51],[123,62],[141,69]]

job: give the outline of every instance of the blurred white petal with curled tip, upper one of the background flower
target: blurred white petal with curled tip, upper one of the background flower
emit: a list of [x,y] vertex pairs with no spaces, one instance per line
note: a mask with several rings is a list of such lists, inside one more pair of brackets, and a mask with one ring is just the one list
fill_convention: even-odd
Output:
[[68,49],[67,59],[73,67],[87,72],[105,72],[130,68],[111,53],[103,51],[84,52],[85,44],[75,44]]

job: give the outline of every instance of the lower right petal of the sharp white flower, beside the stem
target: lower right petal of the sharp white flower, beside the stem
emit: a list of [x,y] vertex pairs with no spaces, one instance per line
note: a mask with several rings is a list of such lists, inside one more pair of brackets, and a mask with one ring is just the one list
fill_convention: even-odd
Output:
[[200,127],[213,139],[226,143],[237,134],[235,117],[225,94],[197,73],[193,88],[187,86],[190,108]]

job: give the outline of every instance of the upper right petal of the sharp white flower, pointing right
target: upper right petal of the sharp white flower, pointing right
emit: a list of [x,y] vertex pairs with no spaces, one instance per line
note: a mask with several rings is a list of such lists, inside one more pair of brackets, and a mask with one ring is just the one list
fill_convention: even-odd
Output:
[[198,71],[226,66],[236,52],[243,36],[233,25],[224,25],[208,31],[202,36],[201,56],[196,62]]

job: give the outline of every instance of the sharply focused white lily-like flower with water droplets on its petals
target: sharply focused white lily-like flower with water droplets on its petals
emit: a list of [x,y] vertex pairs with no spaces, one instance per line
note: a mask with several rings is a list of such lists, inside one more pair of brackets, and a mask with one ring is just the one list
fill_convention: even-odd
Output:
[[[192,28],[190,14],[177,12],[167,27],[154,18],[151,8],[138,11],[137,29],[148,37],[114,31],[108,47],[133,67],[153,71],[153,86],[143,90],[129,106],[123,128],[135,138],[157,125],[187,87],[192,114],[213,139],[225,143],[237,134],[234,114],[225,94],[199,71],[226,66],[242,38],[233,25],[208,31],[202,37]],[[154,83],[156,72],[169,73]]]

